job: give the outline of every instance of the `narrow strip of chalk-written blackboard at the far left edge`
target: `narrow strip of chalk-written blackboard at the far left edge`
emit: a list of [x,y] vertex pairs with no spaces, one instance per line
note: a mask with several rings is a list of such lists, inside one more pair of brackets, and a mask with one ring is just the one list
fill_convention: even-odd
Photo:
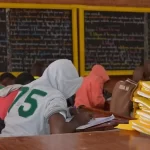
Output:
[[7,70],[6,10],[0,9],[0,72]]

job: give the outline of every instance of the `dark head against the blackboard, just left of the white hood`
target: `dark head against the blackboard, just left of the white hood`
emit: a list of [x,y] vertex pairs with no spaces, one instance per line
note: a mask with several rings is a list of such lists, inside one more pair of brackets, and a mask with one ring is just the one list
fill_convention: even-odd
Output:
[[43,72],[44,72],[45,66],[43,63],[41,62],[36,62],[35,64],[33,64],[32,68],[31,68],[31,74],[32,76],[39,76],[41,77]]

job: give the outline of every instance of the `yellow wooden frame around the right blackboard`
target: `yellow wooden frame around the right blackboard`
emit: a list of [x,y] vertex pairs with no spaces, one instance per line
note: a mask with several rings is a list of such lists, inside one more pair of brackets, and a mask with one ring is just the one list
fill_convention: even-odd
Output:
[[[80,41],[80,75],[85,76],[89,71],[85,70],[85,37],[84,37],[84,11],[115,11],[115,12],[150,12],[150,8],[134,7],[109,7],[109,6],[82,6],[79,8],[79,41]],[[133,70],[108,71],[109,75],[132,75]]]

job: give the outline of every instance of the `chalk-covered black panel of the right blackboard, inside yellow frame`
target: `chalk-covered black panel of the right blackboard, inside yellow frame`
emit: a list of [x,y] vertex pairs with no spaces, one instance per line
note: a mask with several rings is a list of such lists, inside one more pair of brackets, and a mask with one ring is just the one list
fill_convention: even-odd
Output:
[[144,13],[85,11],[85,70],[133,70],[144,61]]

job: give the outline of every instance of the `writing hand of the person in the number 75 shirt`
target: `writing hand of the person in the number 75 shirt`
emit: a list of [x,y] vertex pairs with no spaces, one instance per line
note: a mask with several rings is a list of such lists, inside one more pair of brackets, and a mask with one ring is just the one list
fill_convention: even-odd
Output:
[[87,124],[92,118],[93,118],[93,115],[91,113],[84,112],[84,111],[74,116],[74,120],[76,121],[78,126]]

